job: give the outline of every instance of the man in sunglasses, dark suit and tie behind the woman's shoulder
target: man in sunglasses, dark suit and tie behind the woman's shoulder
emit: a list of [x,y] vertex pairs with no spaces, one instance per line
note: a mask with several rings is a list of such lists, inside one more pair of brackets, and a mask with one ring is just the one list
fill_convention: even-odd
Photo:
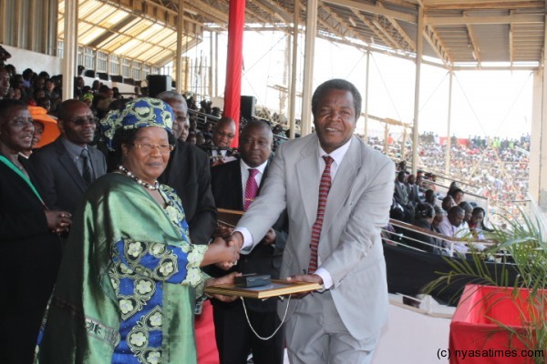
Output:
[[89,145],[97,125],[85,103],[64,101],[57,115],[61,136],[37,149],[30,161],[46,206],[73,214],[89,185],[107,173],[107,162],[97,148]]

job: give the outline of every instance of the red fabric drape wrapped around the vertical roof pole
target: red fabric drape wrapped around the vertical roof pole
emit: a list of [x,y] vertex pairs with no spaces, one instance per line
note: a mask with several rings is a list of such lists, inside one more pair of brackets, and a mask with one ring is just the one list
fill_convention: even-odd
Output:
[[[235,120],[235,135],[239,136],[242,96],[243,27],[245,25],[245,0],[230,0],[228,20],[228,61],[226,62],[226,88],[224,89],[223,116]],[[238,147],[239,137],[234,137],[231,147]]]

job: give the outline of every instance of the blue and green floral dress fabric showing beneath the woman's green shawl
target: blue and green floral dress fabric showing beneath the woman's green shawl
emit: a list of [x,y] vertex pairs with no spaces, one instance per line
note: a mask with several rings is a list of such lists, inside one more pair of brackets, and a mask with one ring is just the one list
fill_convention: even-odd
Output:
[[178,251],[160,243],[122,239],[112,246],[113,264],[108,274],[122,319],[113,363],[162,362],[162,282],[187,280],[195,287],[202,281],[200,262],[206,246],[190,250],[182,206],[170,196],[172,189],[163,187],[160,193],[168,201],[170,221],[188,245],[177,247]]

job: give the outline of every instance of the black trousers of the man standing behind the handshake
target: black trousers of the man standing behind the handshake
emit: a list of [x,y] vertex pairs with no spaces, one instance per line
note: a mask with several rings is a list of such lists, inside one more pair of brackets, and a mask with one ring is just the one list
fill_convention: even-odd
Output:
[[[276,312],[247,308],[247,314],[254,330],[263,338],[272,335],[280,323]],[[249,328],[241,300],[229,304],[214,302],[213,319],[221,364],[244,364],[251,351],[254,364],[283,363],[283,328],[272,339],[258,339]]]

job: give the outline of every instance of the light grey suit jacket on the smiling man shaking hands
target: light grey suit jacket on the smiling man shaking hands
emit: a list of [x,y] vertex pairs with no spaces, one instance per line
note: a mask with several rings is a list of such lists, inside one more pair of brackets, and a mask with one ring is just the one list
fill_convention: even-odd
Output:
[[[238,224],[248,228],[257,242],[287,208],[290,229],[282,278],[308,268],[321,173],[315,134],[285,142],[276,153],[260,196]],[[318,250],[320,267],[332,276],[335,307],[358,340],[376,338],[387,319],[380,228],[388,222],[394,175],[395,166],[388,157],[353,136],[327,198]],[[291,314],[296,301],[291,302]]]

